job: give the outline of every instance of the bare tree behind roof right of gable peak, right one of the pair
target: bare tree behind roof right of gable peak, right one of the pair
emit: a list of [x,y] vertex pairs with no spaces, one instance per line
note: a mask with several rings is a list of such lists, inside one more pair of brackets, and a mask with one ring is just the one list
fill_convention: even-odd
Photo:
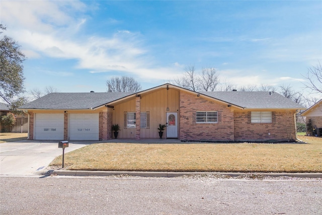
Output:
[[202,91],[215,91],[219,77],[215,68],[202,68],[200,87]]

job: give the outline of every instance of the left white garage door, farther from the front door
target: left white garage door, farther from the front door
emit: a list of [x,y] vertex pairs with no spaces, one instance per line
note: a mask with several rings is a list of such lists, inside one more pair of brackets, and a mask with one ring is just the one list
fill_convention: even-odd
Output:
[[35,139],[63,140],[64,114],[62,113],[36,113]]

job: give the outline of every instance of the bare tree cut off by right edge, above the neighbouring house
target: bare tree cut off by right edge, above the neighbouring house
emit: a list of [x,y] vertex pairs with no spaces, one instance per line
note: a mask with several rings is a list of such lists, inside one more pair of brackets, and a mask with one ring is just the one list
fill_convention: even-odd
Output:
[[308,83],[304,83],[307,89],[310,89],[312,93],[322,93],[322,66],[320,62],[316,66],[310,67],[304,78],[308,80]]

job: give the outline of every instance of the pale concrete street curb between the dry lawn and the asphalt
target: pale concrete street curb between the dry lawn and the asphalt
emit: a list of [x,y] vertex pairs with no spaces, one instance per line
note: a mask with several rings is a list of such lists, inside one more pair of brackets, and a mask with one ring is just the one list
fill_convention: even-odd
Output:
[[140,177],[178,177],[183,175],[227,175],[238,177],[241,175],[263,175],[271,177],[322,178],[322,173],[234,173],[234,172],[137,172],[137,171],[86,171],[86,170],[54,170],[47,173],[60,176],[112,176],[130,175]]

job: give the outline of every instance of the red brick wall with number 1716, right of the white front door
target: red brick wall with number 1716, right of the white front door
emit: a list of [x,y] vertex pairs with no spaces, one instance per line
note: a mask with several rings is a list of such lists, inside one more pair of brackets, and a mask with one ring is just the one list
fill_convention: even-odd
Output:
[[[218,123],[196,123],[196,111],[218,111]],[[180,129],[181,140],[233,141],[233,112],[223,105],[197,95],[180,93]]]

